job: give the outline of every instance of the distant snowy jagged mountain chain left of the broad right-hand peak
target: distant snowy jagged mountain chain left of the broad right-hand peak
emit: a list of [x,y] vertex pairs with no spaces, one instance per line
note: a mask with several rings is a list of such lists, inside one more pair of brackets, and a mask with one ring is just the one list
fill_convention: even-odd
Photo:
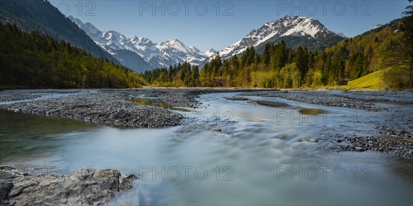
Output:
[[[79,19],[69,18],[81,27],[97,45],[112,54],[123,65],[136,71],[154,69],[156,67],[169,67],[178,62],[188,61],[193,65],[200,65],[206,58],[215,54],[215,50],[201,52],[196,47],[187,47],[178,39],[162,43],[153,43],[149,38],[131,36],[127,38],[119,32],[109,30],[100,31],[92,23],[83,23]],[[134,52],[142,60],[134,59]],[[135,56],[135,58],[138,58]]]

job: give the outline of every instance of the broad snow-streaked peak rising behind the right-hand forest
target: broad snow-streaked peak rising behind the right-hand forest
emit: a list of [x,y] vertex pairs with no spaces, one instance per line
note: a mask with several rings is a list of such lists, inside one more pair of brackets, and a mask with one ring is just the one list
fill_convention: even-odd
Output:
[[[242,54],[247,47],[254,46],[257,50],[266,43],[277,43],[284,39],[289,47],[303,45],[309,49],[322,49],[326,45],[326,39],[332,39],[333,45],[340,41],[343,34],[331,32],[315,19],[301,16],[284,16],[269,23],[265,23],[259,29],[253,30],[240,41],[220,51],[222,58]],[[330,42],[330,41],[328,41]]]

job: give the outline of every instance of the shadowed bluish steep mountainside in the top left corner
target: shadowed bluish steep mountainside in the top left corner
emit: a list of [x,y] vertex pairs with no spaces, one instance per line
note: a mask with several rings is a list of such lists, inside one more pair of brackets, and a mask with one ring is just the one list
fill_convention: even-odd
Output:
[[70,42],[98,58],[118,62],[49,1],[1,0],[0,22],[15,24],[21,30],[36,31],[59,41]]

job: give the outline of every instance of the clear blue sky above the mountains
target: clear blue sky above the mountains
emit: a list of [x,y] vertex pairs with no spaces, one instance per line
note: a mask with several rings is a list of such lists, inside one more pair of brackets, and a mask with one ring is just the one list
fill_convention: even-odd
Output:
[[251,30],[285,15],[309,16],[329,30],[355,36],[400,18],[407,0],[380,1],[60,1],[63,14],[100,30],[144,36],[160,43],[178,38],[198,49],[220,50]]

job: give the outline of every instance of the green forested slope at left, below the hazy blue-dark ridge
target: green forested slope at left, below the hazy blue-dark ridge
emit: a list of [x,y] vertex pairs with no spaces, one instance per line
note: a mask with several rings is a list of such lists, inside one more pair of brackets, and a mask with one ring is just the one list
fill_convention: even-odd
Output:
[[65,41],[0,23],[0,89],[127,88],[145,84],[134,71]]

